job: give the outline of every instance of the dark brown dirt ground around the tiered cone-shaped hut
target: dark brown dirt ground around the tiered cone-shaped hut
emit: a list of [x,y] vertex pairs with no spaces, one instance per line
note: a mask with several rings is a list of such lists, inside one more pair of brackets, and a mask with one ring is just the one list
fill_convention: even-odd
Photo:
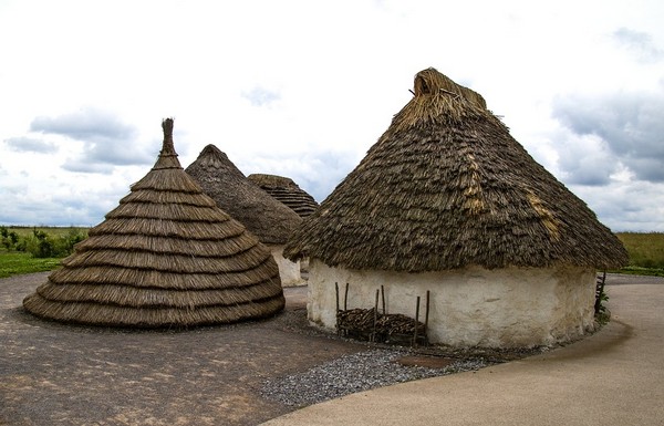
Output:
[[188,331],[46,322],[21,306],[46,276],[0,280],[0,425],[257,425],[294,409],[260,396],[266,380],[370,347],[310,328],[305,288],[286,289],[284,312],[260,322]]

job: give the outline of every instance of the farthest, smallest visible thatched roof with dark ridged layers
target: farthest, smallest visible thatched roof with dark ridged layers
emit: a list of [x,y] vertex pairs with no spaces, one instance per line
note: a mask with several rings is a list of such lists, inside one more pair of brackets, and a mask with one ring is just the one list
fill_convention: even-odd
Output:
[[291,178],[264,174],[249,175],[248,178],[278,201],[287,205],[301,218],[308,217],[318,208],[315,199]]

